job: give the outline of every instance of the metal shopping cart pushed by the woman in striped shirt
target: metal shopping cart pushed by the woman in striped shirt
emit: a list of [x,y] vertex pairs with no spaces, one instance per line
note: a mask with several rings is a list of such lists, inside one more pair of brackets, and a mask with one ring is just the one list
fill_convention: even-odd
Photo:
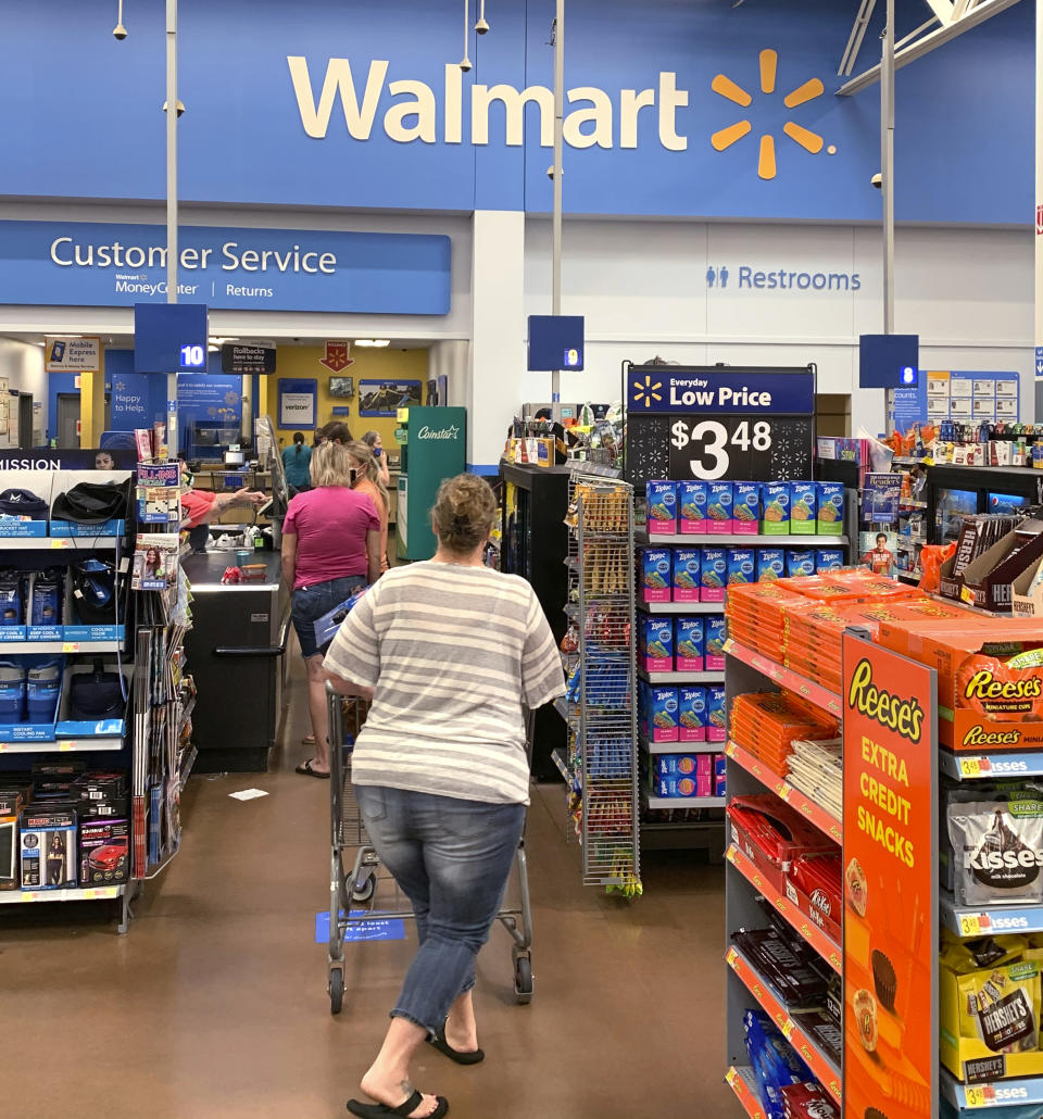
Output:
[[[330,749],[330,923],[329,923],[329,990],[330,1013],[340,1014],[344,1006],[345,953],[344,946],[353,925],[373,920],[407,920],[411,909],[375,911],[378,885],[389,882],[379,878],[380,861],[366,835],[358,801],[351,788],[351,750],[366,721],[366,702],[346,698],[326,686],[329,705]],[[532,718],[528,741],[532,742]],[[349,873],[345,873],[345,852],[357,848]],[[518,908],[502,909],[497,920],[510,933],[511,958],[515,971],[515,997],[522,1004],[533,1000],[533,912],[528,892],[528,863],[525,854],[525,835],[518,844]],[[401,895],[400,895],[401,896]]]

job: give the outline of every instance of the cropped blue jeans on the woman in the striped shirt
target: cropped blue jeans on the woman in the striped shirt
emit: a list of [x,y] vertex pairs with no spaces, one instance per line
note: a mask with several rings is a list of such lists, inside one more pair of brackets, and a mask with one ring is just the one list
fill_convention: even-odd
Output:
[[435,1031],[474,986],[525,825],[524,805],[356,786],[369,839],[410,899],[420,949],[393,1018]]

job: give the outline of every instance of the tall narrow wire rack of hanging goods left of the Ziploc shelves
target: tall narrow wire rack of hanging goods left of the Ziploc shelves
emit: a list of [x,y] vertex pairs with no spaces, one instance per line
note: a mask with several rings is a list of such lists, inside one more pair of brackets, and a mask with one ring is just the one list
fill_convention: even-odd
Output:
[[570,807],[584,885],[640,888],[633,706],[633,488],[570,480]]

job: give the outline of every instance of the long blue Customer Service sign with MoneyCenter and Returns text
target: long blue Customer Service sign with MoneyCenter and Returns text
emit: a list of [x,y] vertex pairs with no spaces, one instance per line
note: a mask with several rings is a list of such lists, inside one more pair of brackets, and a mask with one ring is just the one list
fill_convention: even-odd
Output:
[[[449,312],[445,236],[215,226],[182,226],[178,236],[178,294],[212,308]],[[0,222],[0,303],[166,299],[165,226]]]

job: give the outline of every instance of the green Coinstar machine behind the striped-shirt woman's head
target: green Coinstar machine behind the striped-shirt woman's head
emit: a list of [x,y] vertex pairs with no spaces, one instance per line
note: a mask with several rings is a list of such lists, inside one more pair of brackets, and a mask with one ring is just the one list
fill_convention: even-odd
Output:
[[445,478],[467,463],[467,408],[410,408],[398,478],[395,525],[400,560],[430,560],[435,539],[431,509]]

